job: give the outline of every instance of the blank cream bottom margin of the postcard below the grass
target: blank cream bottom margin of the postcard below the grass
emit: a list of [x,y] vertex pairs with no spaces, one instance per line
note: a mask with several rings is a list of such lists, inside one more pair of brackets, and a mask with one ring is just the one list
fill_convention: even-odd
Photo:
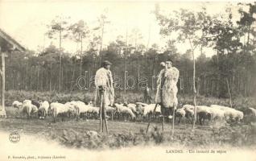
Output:
[[[56,142],[35,138],[33,135],[20,134],[20,141],[10,142],[9,132],[0,132],[0,160],[246,160],[255,161],[255,149],[233,149],[227,147],[194,149],[194,151],[209,150],[209,153],[189,153],[184,147],[129,147],[118,150],[89,151],[85,149],[69,149],[61,147]],[[183,151],[183,153],[167,153],[167,151]],[[211,154],[210,151],[216,151]],[[217,153],[218,150],[226,151]],[[55,156],[55,158],[54,158]],[[21,159],[19,159],[19,157]],[[34,157],[29,159],[29,157]],[[51,157],[51,159],[49,159]],[[59,157],[59,158],[58,158]]]

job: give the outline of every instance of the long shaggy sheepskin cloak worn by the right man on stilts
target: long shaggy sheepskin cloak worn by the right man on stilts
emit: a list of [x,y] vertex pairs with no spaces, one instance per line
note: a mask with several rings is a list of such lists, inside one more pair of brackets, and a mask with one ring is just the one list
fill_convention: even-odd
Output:
[[164,68],[159,73],[157,80],[157,91],[155,102],[163,105],[165,108],[172,108],[178,105],[177,82],[179,79],[179,70],[175,67]]

